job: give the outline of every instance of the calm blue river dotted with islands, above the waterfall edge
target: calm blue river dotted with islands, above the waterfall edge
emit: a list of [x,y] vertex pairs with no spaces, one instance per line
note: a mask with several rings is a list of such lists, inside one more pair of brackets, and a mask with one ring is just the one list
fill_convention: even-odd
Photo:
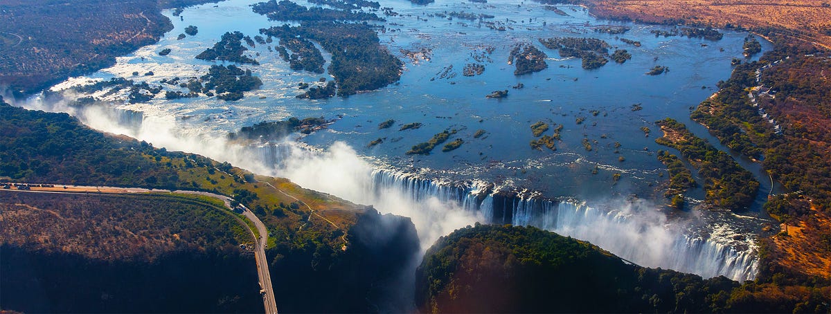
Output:
[[[283,24],[269,22],[251,12],[248,5],[253,2],[256,1],[229,0],[189,7],[182,13],[182,19],[165,12],[175,29],[157,45],[119,58],[118,64],[110,69],[72,79],[58,87],[113,76],[151,84],[175,76],[200,76],[214,62],[195,60],[194,56],[219,41],[224,32],[240,31],[253,37],[260,28]],[[122,109],[143,111],[145,116],[175,116],[183,130],[199,130],[214,136],[288,116],[337,118],[328,130],[298,140],[322,148],[343,141],[359,154],[396,169],[420,169],[427,177],[482,180],[534,189],[548,197],[598,199],[637,194],[652,198],[661,194],[656,192],[656,187],[666,181],[666,170],[654,155],[666,147],[655,144],[661,132],[653,122],[672,117],[691,125],[691,107],[711,96],[717,81],[730,76],[730,60],[742,57],[742,41],[747,36],[725,32],[719,42],[654,37],[651,30],[669,27],[597,20],[582,7],[573,6],[558,6],[568,13],[568,16],[559,16],[535,2],[491,0],[479,4],[439,0],[421,7],[392,0],[382,1],[381,7],[394,7],[401,14],[387,17],[388,21],[381,23],[386,26],[386,32],[379,37],[391,53],[405,61],[406,67],[399,84],[380,91],[324,101],[298,100],[294,97],[301,93],[296,88],[297,82],[332,77],[327,73],[293,72],[276,52],[268,52],[266,45],[258,45],[250,55],[262,66],[243,67],[250,68],[265,84],[259,91],[246,93],[242,101],[204,97],[166,101],[164,93],[149,104],[126,105],[119,98],[123,99],[124,93],[107,100]],[[499,32],[484,27],[479,21],[430,17],[445,11],[491,14],[495,17],[484,19],[485,22],[500,22],[507,29]],[[189,25],[199,27],[199,33],[177,41],[176,36]],[[631,31],[622,35],[593,31],[593,27],[603,25],[626,26]],[[612,45],[611,52],[619,47],[632,53],[632,60],[622,65],[610,61],[600,69],[587,71],[580,67],[580,60],[563,60],[558,52],[537,42],[540,37],[564,36],[600,38]],[[640,41],[642,47],[627,45],[617,37]],[[508,54],[511,47],[521,42],[534,43],[546,52],[548,69],[514,76],[514,66],[507,64]],[[276,41],[271,45],[275,44]],[[462,76],[465,64],[475,62],[473,55],[481,54],[485,47],[493,47],[494,52],[485,54],[484,73]],[[763,47],[769,49],[770,43],[763,42]],[[172,49],[169,56],[156,54],[163,48]],[[429,60],[412,60],[401,52],[423,48],[429,51]],[[660,76],[644,74],[656,65],[668,66],[670,71]],[[449,72],[452,77],[437,77],[447,66],[453,66]],[[133,71],[154,71],[155,76],[132,76]],[[520,82],[524,89],[511,88]],[[484,97],[491,91],[506,89],[509,90],[507,98]],[[643,109],[632,111],[636,103]],[[592,110],[599,113],[595,116]],[[575,122],[578,117],[585,118],[583,124]],[[377,130],[378,123],[389,119],[396,120],[396,124]],[[529,125],[537,121],[551,125],[551,130],[545,133],[548,135],[553,133],[555,125],[563,125],[557,151],[530,148],[529,141],[534,136]],[[418,130],[399,131],[400,125],[411,122],[423,125]],[[650,128],[652,133],[645,136],[642,127]],[[458,130],[450,140],[465,140],[460,149],[443,153],[438,146],[431,155],[405,155],[412,145],[449,129]],[[479,129],[487,133],[474,139]],[[700,136],[708,136],[701,127],[693,130]],[[377,138],[386,140],[381,145],[366,147]],[[593,150],[583,148],[583,139],[591,142]],[[621,144],[619,149],[614,147],[616,142]],[[625,161],[618,161],[621,156]],[[592,174],[595,167],[598,172]],[[615,183],[612,175],[617,173],[622,178]],[[762,189],[766,192],[770,186]],[[691,192],[695,198],[701,199],[701,195],[701,191]]]

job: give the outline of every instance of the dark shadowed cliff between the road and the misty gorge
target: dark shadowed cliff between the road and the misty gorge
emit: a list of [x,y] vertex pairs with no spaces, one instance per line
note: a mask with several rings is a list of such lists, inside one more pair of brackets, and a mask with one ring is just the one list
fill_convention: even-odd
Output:
[[307,242],[267,252],[281,312],[411,312],[413,270],[420,253],[410,218],[358,214],[348,247]]

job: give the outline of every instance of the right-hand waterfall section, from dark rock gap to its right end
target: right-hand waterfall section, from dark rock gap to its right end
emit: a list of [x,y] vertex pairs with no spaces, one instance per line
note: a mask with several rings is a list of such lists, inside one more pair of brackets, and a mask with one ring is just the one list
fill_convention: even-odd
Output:
[[712,236],[692,236],[657,215],[603,211],[568,201],[519,199],[512,223],[583,239],[642,266],[702,277],[724,275],[745,281],[753,279],[759,267],[754,248],[739,250]]

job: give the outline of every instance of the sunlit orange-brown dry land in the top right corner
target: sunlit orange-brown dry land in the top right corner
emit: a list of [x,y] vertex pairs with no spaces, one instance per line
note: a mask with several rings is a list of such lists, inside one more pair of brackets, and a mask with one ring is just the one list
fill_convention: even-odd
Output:
[[831,47],[829,0],[586,0],[598,17],[642,22],[745,27]]

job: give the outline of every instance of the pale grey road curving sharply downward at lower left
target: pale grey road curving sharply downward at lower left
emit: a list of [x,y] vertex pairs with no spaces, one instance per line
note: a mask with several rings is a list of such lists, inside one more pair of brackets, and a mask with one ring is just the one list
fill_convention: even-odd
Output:
[[[62,185],[62,184],[55,184],[52,188],[32,188],[32,189],[3,189],[4,191],[17,191],[17,192],[30,192],[30,193],[56,193],[56,194],[79,194],[79,193],[101,193],[101,194],[135,194],[135,193],[146,193],[146,192],[172,192],[178,194],[199,194],[205,195],[209,197],[213,197],[216,199],[221,199],[225,206],[229,209],[231,208],[231,198],[213,194],[209,192],[201,192],[201,191],[188,191],[188,190],[175,190],[170,191],[167,189],[143,189],[143,188],[115,188],[115,187],[103,187],[103,186],[72,186],[72,185]],[[288,194],[287,194],[288,195]],[[271,285],[271,274],[268,272],[268,258],[265,256],[265,248],[268,245],[268,229],[265,228],[265,224],[257,218],[257,215],[251,212],[251,210],[245,208],[242,204],[239,205],[240,208],[243,209],[243,215],[251,220],[254,223],[254,227],[257,228],[259,233],[259,237],[253,232],[253,230],[245,224],[245,227],[248,228],[248,231],[251,232],[251,236],[255,238],[254,243],[254,260],[257,262],[257,275],[259,277],[259,284],[260,288],[263,289],[263,306],[265,307],[266,314],[277,314],[277,302],[274,301],[274,289]]]

